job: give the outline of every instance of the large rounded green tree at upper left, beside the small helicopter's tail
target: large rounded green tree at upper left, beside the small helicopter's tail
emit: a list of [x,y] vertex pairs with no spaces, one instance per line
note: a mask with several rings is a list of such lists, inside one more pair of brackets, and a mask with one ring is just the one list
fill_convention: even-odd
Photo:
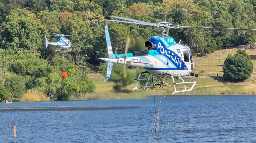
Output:
[[[23,18],[26,17],[26,18]],[[41,25],[36,15],[25,9],[14,9],[1,30],[1,47],[3,49],[23,48],[26,50],[40,50],[43,47],[43,35],[46,27]]]

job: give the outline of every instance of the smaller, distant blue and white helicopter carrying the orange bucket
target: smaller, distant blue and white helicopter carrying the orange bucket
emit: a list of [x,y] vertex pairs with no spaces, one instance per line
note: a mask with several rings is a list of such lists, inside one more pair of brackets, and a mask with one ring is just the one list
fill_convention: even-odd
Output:
[[46,40],[46,48],[48,45],[55,45],[56,50],[55,51],[64,51],[64,52],[70,52],[72,49],[70,48],[72,46],[71,42],[64,38],[64,36],[72,36],[72,35],[63,35],[63,34],[52,34],[49,36],[61,36],[61,38],[58,38],[56,42],[48,42],[47,37],[45,35],[45,40]]

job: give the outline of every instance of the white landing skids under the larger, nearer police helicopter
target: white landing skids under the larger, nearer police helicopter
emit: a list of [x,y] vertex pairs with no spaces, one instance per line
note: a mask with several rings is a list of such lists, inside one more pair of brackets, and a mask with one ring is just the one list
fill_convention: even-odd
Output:
[[[150,76],[149,76],[148,78],[139,79],[140,76],[141,76],[143,73],[148,73],[148,72],[142,72],[142,73],[139,74],[138,79],[135,79],[135,80],[137,81],[137,83],[136,83],[136,86],[134,87],[133,90],[136,90],[136,89],[145,89],[145,90],[146,90],[147,88],[150,88],[150,87],[152,87],[153,85],[158,85],[158,86],[160,86],[159,88],[161,88],[161,89],[164,88],[163,86],[169,87],[169,85],[167,84],[166,81],[164,81],[164,80],[158,80],[158,81],[156,81],[157,78],[153,78],[153,75],[151,75],[151,74],[150,74]],[[148,73],[148,74],[149,74],[149,73]],[[191,90],[194,88],[194,86],[196,85],[196,81],[185,82],[181,77],[178,77],[177,79],[182,80],[182,82],[177,82],[177,83],[176,83],[176,82],[174,81],[174,78],[173,78],[172,75],[170,75],[170,74],[168,74],[168,73],[165,73],[165,75],[171,76],[171,78],[172,78],[172,80],[173,80],[174,92],[173,92],[172,94],[180,93],[180,92],[191,91]],[[151,84],[151,85],[148,85],[148,82],[149,82],[151,79],[152,79],[152,84]],[[145,86],[137,87],[139,81],[145,81],[145,80],[147,81]],[[166,85],[164,84],[164,82],[165,82]],[[191,87],[190,89],[187,89],[187,88],[186,88],[186,84],[187,84],[187,83],[192,83],[192,87]],[[177,91],[177,90],[176,90],[176,84],[184,84],[184,90]],[[132,90],[132,91],[133,91],[133,90]]]

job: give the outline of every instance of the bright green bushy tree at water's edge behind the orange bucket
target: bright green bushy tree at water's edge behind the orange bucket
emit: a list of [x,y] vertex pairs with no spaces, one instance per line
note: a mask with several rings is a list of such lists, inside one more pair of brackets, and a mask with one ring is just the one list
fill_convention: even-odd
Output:
[[[63,78],[61,70],[66,69],[68,76]],[[73,61],[64,57],[55,57],[52,62],[52,72],[47,77],[40,78],[40,86],[43,91],[51,91],[60,100],[67,100],[74,95],[79,98],[81,93],[95,92],[95,85],[87,78],[89,68],[80,69]]]

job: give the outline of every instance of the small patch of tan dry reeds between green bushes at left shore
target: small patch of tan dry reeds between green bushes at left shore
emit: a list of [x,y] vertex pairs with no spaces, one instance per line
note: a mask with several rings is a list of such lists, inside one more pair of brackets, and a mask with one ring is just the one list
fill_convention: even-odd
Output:
[[43,92],[27,92],[24,93],[20,101],[47,101],[47,95]]

